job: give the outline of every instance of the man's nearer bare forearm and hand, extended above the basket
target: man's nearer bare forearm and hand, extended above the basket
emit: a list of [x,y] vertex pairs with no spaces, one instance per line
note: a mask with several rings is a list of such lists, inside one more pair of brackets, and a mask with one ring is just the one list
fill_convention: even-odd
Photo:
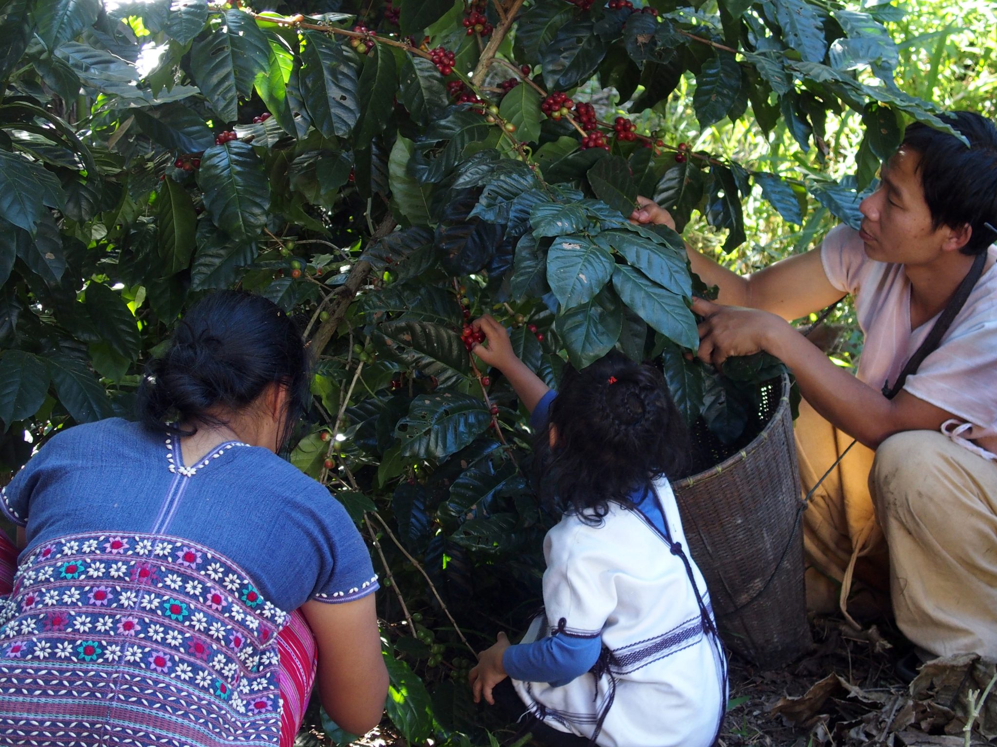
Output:
[[697,299],[692,310],[703,316],[698,357],[722,367],[732,356],[765,351],[793,372],[800,393],[832,425],[876,448],[904,430],[938,430],[950,412],[907,391],[887,399],[878,389],[835,366],[807,338],[776,315],[737,309]]

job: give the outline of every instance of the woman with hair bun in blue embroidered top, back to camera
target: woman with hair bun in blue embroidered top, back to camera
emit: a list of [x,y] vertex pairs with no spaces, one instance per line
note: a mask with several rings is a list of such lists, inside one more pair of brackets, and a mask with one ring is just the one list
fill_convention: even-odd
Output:
[[309,369],[275,305],[211,294],[149,365],[141,422],[60,432],[4,488],[22,550],[0,603],[0,742],[290,744],[303,704],[281,641],[310,642],[299,609],[330,716],[355,733],[380,720],[370,557],[277,456]]

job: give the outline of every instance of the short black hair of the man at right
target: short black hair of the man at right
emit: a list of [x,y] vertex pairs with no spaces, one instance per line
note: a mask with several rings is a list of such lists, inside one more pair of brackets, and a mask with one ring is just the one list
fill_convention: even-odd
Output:
[[916,150],[924,201],[932,227],[969,224],[972,236],[959,251],[975,255],[997,241],[997,126],[973,112],[940,117],[969,140],[967,147],[954,134],[927,124],[908,124],[903,144]]

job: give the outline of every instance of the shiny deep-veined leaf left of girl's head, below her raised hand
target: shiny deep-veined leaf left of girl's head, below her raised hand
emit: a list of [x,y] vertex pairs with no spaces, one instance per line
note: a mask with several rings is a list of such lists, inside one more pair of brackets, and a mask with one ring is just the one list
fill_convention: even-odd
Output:
[[485,432],[492,414],[477,397],[456,392],[421,394],[395,428],[402,453],[437,461],[464,448]]

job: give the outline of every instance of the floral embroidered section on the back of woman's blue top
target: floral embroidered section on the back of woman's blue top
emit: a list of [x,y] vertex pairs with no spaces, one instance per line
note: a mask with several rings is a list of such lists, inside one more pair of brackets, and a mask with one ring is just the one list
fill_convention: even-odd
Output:
[[65,538],[22,560],[14,590],[0,605],[0,694],[25,698],[19,718],[44,716],[67,687],[110,687],[81,668],[110,666],[118,693],[142,704],[130,711],[136,727],[180,701],[240,744],[276,743],[276,633],[287,615],[209,549],[143,535]]

